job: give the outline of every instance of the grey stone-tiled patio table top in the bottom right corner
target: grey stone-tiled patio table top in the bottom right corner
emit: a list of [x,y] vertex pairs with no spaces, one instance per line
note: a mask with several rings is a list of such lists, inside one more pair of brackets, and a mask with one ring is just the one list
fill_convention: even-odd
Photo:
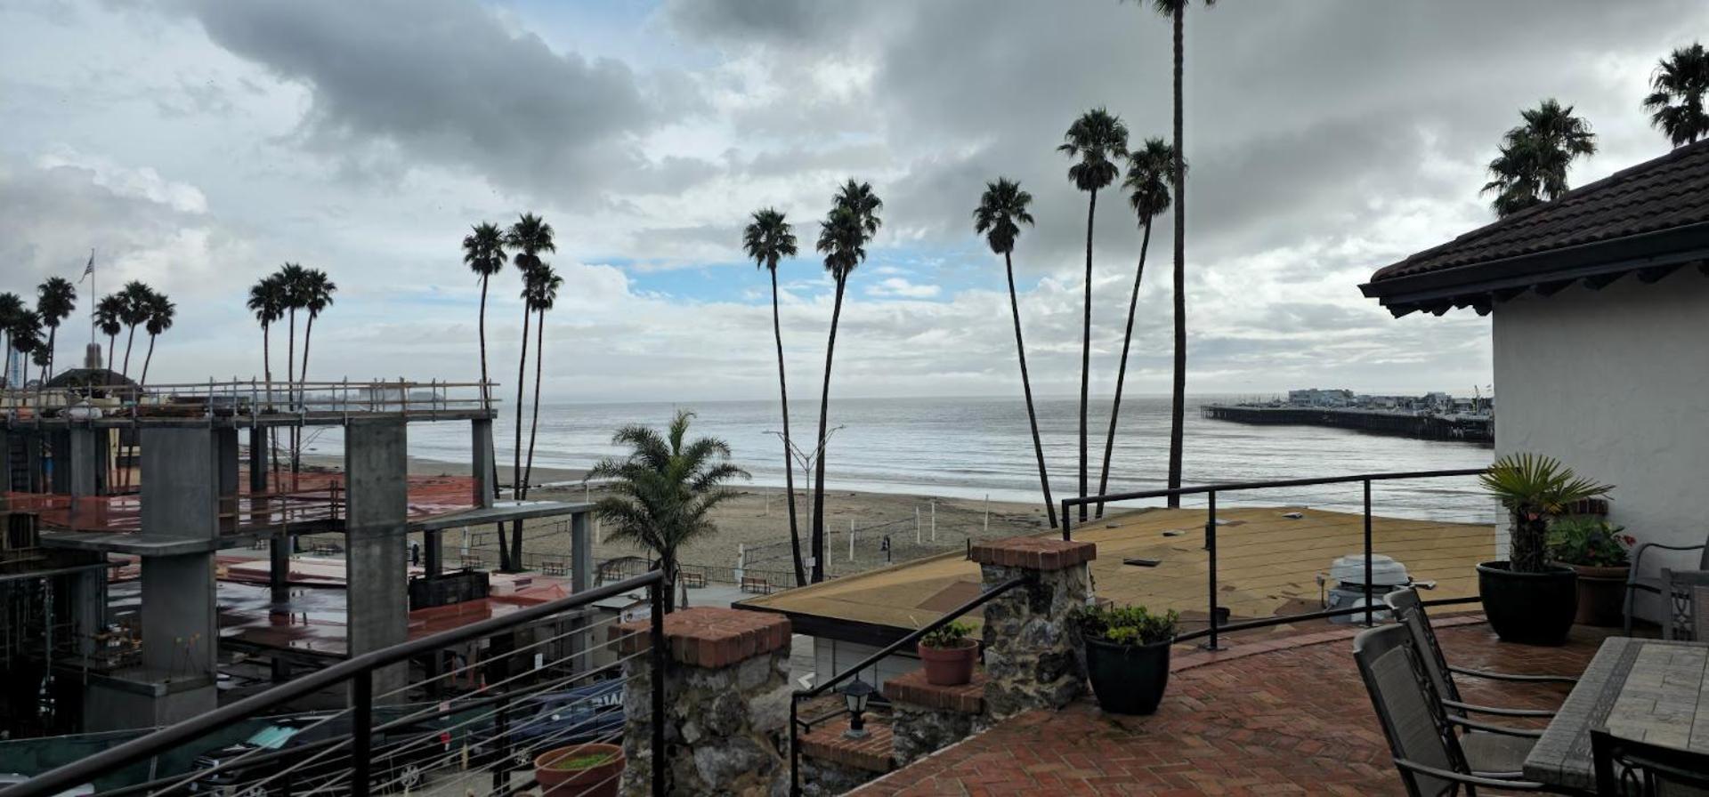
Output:
[[1709,753],[1709,643],[1613,637],[1524,759],[1524,777],[1596,788],[1591,729]]

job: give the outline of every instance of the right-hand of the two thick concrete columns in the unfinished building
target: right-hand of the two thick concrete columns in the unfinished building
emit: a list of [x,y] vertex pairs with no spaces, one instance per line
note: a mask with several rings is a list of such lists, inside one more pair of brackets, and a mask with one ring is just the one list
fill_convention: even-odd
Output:
[[[350,420],[344,427],[345,567],[350,655],[408,638],[408,512],[403,420]],[[374,672],[374,695],[398,689],[408,664]],[[398,696],[400,698],[400,696]],[[396,700],[396,698],[393,698]]]

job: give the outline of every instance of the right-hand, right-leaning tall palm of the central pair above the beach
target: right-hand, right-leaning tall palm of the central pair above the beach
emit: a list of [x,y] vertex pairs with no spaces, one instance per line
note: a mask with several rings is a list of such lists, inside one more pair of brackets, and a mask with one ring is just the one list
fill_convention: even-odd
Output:
[[831,338],[825,341],[825,386],[819,394],[819,439],[813,461],[813,584],[825,580],[825,425],[831,420],[831,357],[837,350],[837,321],[843,319],[843,294],[849,275],[866,259],[866,242],[878,234],[884,201],[872,193],[872,183],[849,179],[832,198],[831,213],[819,230],[817,249],[825,256],[825,271],[836,280],[837,295],[831,307]]

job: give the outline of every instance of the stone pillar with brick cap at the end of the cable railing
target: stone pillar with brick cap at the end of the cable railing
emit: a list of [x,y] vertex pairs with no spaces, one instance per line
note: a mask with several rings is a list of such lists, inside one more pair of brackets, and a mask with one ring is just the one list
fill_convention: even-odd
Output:
[[653,724],[665,724],[667,794],[790,790],[790,620],[699,606],[665,616],[665,715],[653,717],[651,620],[610,638],[624,660],[622,794],[653,787]]

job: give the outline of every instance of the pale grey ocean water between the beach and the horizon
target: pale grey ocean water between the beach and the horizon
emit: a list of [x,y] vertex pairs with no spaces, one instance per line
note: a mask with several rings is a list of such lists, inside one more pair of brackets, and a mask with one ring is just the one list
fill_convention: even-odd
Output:
[[[1477,444],[1323,427],[1260,427],[1200,416],[1201,403],[1227,399],[1232,396],[1188,399],[1183,464],[1183,481],[1188,485],[1482,468],[1492,461],[1492,451]],[[619,427],[646,423],[661,428],[678,406],[696,413],[692,435],[714,435],[730,444],[735,462],[754,476],[752,485],[783,485],[783,444],[771,433],[783,428],[776,401],[542,404],[535,464],[588,468],[600,457],[620,454],[610,444],[612,432]],[[1078,399],[1039,399],[1037,413],[1051,490],[1061,500],[1077,493]],[[501,462],[511,461],[511,423],[506,416],[494,428]],[[817,396],[790,403],[790,430],[796,445],[807,447],[805,440],[815,435],[817,423]],[[1107,396],[1094,398],[1089,425],[1090,486],[1095,492],[1109,425]],[[832,398],[831,427],[836,428],[825,459],[825,483],[831,490],[1039,500],[1037,462],[1020,396]],[[525,425],[525,447],[526,433]],[[337,432],[321,433],[306,445],[318,454],[337,452]],[[410,454],[415,457],[467,462],[468,451],[465,423],[410,425]],[[1169,399],[1125,398],[1111,456],[1109,492],[1162,488],[1167,462]],[[796,486],[803,486],[800,466]],[[1359,490],[1359,485],[1271,490],[1230,495],[1225,500],[1278,503],[1292,498],[1313,505],[1355,507],[1362,500]],[[1471,478],[1377,485],[1374,493],[1379,498],[1374,503],[1389,509],[1383,514],[1494,517],[1492,505]],[[1400,507],[1413,512],[1393,512]]]

